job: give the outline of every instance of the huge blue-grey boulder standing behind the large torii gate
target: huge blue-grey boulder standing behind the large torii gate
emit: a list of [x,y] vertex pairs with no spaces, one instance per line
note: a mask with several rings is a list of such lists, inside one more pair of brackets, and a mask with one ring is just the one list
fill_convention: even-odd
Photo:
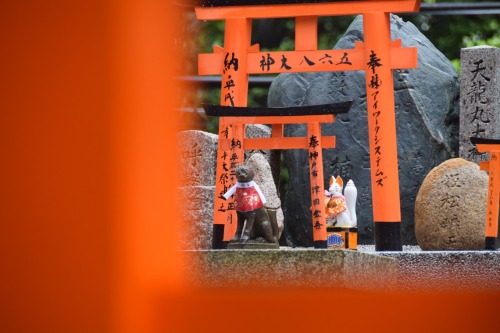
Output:
[[[363,41],[358,16],[335,49],[352,49]],[[392,39],[418,48],[418,68],[394,71],[399,156],[402,232],[404,244],[415,244],[414,203],[425,175],[458,150],[459,84],[450,61],[409,22],[391,15]],[[335,135],[335,149],[324,152],[325,187],[330,175],[352,179],[358,188],[359,242],[373,242],[370,162],[364,71],[287,73],[271,85],[270,107],[305,106],[354,100],[348,114],[324,125]],[[286,126],[286,136],[305,135],[305,125]],[[285,198],[285,236],[282,243],[312,246],[307,152],[288,150],[289,183]],[[286,242],[285,242],[286,241]]]

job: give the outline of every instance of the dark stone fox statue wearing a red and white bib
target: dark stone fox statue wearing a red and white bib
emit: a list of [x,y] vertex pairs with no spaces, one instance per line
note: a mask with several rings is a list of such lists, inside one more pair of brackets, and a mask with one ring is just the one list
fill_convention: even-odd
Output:
[[266,199],[253,180],[254,171],[247,165],[239,165],[234,171],[238,182],[224,194],[226,200],[234,194],[238,216],[236,234],[230,242],[247,242],[263,237],[268,243],[277,243],[278,224],[275,216],[270,218],[264,207]]

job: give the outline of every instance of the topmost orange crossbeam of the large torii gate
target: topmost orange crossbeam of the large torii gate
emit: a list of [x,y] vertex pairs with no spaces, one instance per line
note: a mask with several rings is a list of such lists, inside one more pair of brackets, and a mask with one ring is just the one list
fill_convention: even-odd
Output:
[[365,0],[320,4],[257,5],[234,7],[196,7],[198,20],[224,20],[251,17],[281,18],[301,16],[346,16],[368,12],[407,13],[416,12],[421,0]]

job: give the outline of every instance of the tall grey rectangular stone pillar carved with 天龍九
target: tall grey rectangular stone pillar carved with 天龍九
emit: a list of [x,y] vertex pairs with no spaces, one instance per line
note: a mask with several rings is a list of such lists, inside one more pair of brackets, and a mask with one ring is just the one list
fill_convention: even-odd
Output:
[[478,163],[488,160],[487,153],[478,153],[469,138],[500,138],[500,49],[462,49],[460,63],[459,156]]

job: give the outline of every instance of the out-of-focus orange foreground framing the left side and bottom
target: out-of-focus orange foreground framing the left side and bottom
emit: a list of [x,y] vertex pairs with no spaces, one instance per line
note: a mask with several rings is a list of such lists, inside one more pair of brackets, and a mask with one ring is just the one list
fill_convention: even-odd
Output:
[[175,8],[0,6],[2,333],[498,327],[495,294],[183,285],[171,91],[182,56],[174,38],[193,36],[177,35]]

